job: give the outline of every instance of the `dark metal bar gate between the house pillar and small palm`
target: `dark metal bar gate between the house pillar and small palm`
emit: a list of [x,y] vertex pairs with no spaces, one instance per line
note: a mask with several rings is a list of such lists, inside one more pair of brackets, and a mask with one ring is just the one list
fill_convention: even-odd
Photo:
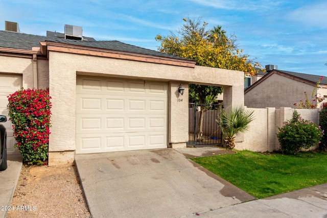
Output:
[[[202,136],[199,134],[201,107],[204,108],[202,119]],[[222,132],[216,120],[222,110],[221,104],[189,103],[189,142],[188,147],[221,145]]]

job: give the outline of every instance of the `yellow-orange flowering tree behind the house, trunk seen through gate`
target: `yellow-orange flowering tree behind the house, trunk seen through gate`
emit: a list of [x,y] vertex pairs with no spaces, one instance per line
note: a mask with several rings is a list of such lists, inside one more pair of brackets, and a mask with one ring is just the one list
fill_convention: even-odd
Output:
[[[183,20],[185,23],[178,31],[178,35],[171,33],[168,36],[155,37],[160,42],[158,51],[195,60],[199,66],[239,70],[247,76],[258,72],[256,67],[261,65],[251,61],[249,55],[243,54],[243,50],[238,49],[235,36],[227,37],[220,26],[207,30],[208,23],[201,18],[183,18]],[[189,85],[190,100],[199,104],[214,103],[217,101],[217,95],[222,92],[222,87]],[[201,105],[198,141],[203,138],[201,120],[206,109]]]

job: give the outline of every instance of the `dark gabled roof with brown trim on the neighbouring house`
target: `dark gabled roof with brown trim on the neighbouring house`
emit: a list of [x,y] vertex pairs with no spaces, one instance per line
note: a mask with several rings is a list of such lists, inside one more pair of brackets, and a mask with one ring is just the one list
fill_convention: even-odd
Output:
[[[269,72],[265,73],[265,76],[262,77],[260,80],[256,81],[255,83],[253,83],[251,86],[249,86],[248,88],[246,88],[244,90],[244,93],[248,92],[249,90],[251,90],[252,88],[254,88],[255,86],[257,86],[258,84],[260,84],[261,82],[263,82],[264,80],[266,80],[267,78],[269,78],[271,75],[273,74],[278,74],[293,80],[297,80],[299,82],[302,83],[307,83],[310,85],[315,85],[318,80],[320,79],[320,76],[318,75],[311,75],[311,74],[301,74],[300,72],[292,72],[292,71],[286,71],[286,70],[279,70],[279,69],[273,69]],[[327,77],[323,77],[320,85],[327,85]]]

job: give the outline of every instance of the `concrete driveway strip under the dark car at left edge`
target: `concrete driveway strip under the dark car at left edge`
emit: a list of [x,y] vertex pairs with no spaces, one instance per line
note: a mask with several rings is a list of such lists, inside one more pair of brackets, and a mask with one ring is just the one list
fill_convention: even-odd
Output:
[[20,175],[21,155],[8,155],[7,164],[8,168],[5,171],[0,171],[0,217],[7,216],[6,206],[10,206]]

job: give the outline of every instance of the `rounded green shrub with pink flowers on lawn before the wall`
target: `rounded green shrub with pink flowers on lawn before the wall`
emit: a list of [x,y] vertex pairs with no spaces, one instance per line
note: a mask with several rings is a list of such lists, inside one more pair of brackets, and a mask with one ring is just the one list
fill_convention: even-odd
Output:
[[278,127],[277,138],[284,154],[296,154],[302,148],[309,149],[316,143],[320,143],[323,130],[320,126],[309,120],[304,120],[294,110],[293,118],[284,122],[284,126]]

